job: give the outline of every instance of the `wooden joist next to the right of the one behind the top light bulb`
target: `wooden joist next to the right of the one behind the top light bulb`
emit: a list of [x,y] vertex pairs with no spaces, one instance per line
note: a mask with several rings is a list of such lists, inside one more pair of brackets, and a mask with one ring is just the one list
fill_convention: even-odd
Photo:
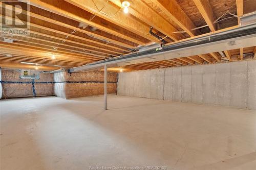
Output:
[[170,19],[177,23],[177,25],[186,31],[186,33],[191,37],[200,34],[198,30],[192,31],[192,29],[196,28],[196,26],[176,1],[151,0],[151,2],[153,2],[159,9],[161,9]]

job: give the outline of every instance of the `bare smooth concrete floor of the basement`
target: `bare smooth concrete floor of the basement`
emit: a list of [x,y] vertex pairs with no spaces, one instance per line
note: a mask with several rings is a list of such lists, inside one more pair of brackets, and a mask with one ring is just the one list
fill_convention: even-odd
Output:
[[1,170],[256,167],[256,111],[115,95],[108,102],[102,111],[102,96],[0,101]]

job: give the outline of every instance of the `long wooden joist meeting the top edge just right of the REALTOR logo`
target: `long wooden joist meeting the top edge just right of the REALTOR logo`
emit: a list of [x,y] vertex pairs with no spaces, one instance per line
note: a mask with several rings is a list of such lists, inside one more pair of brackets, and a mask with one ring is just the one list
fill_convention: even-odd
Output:
[[132,32],[126,31],[123,28],[118,28],[115,25],[111,25],[111,22],[109,21],[102,20],[97,17],[91,20],[91,16],[92,16],[91,13],[84,11],[75,6],[72,6],[72,8],[70,8],[70,5],[68,5],[68,3],[64,1],[55,0],[55,1],[43,2],[39,0],[31,0],[29,1],[29,3],[35,7],[50,11],[60,16],[64,16],[64,17],[76,20],[78,22],[82,22],[88,26],[97,28],[99,30],[110,33],[117,37],[121,37],[128,41],[135,42],[137,44],[145,45],[145,43],[148,42],[148,41],[145,41],[146,39],[142,38],[141,36],[138,36]]

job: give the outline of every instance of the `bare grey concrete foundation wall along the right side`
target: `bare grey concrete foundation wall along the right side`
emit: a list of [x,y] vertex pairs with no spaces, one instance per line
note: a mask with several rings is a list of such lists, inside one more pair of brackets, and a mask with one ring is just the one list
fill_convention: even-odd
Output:
[[121,72],[118,94],[256,109],[256,60]]

